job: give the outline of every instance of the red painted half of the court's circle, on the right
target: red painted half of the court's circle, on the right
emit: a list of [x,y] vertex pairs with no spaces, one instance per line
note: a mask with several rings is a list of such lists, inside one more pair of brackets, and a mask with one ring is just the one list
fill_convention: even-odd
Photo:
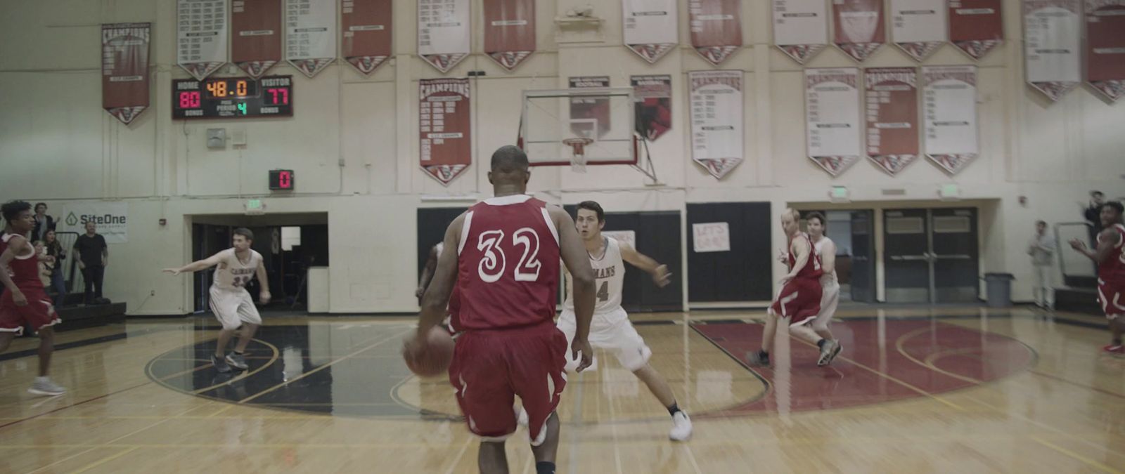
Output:
[[[762,325],[694,328],[739,361],[762,344]],[[781,332],[783,328],[778,328]],[[844,352],[818,367],[818,349],[790,338],[770,367],[749,367],[768,388],[757,400],[712,416],[826,410],[928,396],[1029,368],[1035,353],[1010,337],[935,320],[845,320],[832,323]]]

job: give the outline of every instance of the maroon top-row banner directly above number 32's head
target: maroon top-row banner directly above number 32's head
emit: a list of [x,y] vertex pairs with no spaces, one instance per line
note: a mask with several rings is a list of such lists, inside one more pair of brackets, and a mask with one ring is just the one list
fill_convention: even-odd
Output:
[[534,0],[485,0],[485,53],[511,71],[536,51]]

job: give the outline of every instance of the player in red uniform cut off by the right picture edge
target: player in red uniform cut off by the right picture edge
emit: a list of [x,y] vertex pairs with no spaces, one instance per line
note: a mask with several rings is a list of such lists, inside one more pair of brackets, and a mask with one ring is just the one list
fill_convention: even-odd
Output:
[[1113,340],[1102,350],[1110,354],[1125,354],[1125,346],[1122,346],[1122,335],[1125,334],[1125,225],[1122,225],[1122,211],[1120,202],[1101,204],[1102,230],[1098,234],[1097,249],[1086,248],[1086,243],[1080,239],[1070,241],[1071,247],[1098,265],[1098,301],[1113,332]]

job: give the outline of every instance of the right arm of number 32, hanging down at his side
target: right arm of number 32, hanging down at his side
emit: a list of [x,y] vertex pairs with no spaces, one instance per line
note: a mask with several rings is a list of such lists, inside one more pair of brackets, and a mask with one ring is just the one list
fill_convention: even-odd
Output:
[[593,363],[593,348],[590,346],[590,321],[594,318],[594,270],[590,266],[590,254],[578,237],[574,219],[562,208],[549,208],[548,212],[559,233],[559,254],[562,264],[570,272],[570,283],[574,285],[575,331],[570,344],[570,356],[582,354],[578,372],[586,370]]

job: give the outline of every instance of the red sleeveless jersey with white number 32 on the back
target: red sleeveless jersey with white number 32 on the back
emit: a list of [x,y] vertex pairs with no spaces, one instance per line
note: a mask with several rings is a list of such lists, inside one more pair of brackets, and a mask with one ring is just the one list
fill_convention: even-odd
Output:
[[554,323],[559,237],[543,201],[514,194],[469,208],[457,254],[461,329]]

